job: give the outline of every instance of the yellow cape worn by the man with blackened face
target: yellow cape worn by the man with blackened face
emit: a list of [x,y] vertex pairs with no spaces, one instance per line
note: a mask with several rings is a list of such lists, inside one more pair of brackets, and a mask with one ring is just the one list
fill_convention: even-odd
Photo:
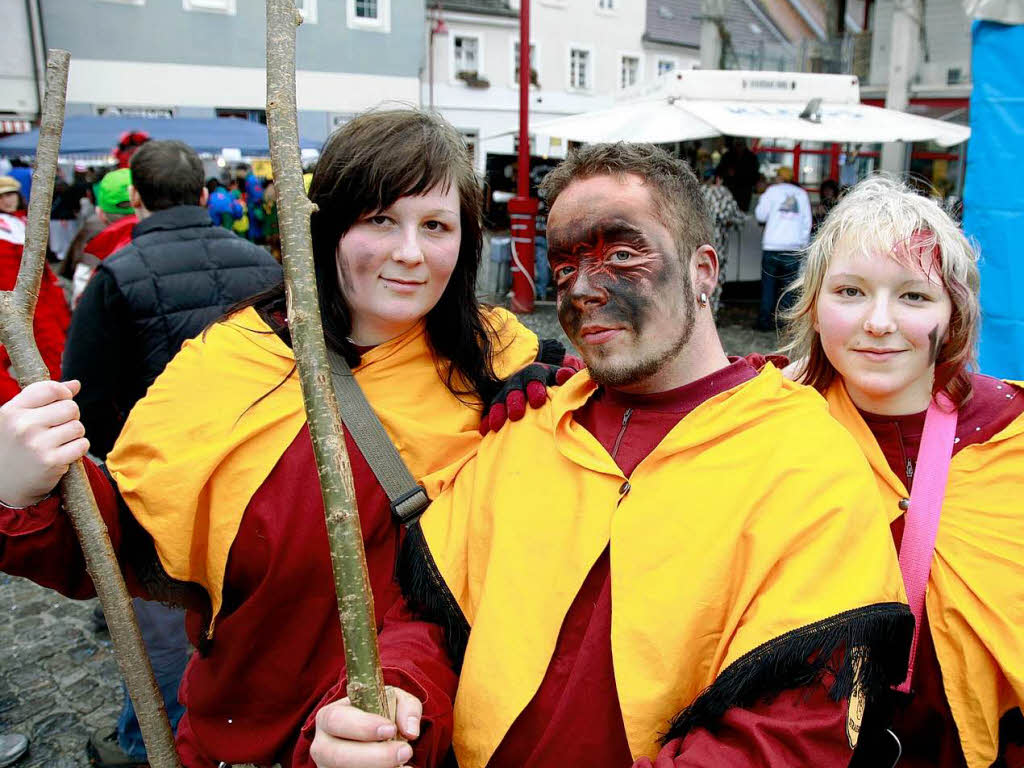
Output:
[[908,640],[870,470],[816,392],[767,366],[687,415],[624,493],[622,471],[572,419],[595,388],[577,374],[488,436],[421,520],[472,628],[456,700],[463,768],[486,765],[532,698],[609,546],[615,683],[634,757],[653,757],[670,719],[731,665],[764,673],[778,645],[810,638],[793,651],[803,663],[821,647],[814,633],[853,615],[887,616]]

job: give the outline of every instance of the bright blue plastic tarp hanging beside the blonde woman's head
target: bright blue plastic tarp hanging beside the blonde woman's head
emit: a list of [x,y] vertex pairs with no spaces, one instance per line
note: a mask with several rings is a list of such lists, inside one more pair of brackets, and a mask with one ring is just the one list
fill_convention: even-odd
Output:
[[1024,26],[977,22],[964,229],[981,250],[981,371],[1024,379]]

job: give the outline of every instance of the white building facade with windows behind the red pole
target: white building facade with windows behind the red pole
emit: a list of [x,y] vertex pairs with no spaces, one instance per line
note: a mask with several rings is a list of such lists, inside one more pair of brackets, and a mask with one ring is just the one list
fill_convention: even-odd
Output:
[[[645,51],[645,0],[532,0],[530,122],[610,106],[652,72]],[[460,0],[426,12],[427,67],[421,97],[467,137],[479,169],[515,153],[519,115],[519,5]],[[656,67],[656,65],[653,65]],[[562,158],[558,138],[531,154]]]

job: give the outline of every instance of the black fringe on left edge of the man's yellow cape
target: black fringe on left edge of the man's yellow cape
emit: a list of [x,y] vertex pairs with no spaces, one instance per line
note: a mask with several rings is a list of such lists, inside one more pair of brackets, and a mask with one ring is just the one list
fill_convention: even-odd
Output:
[[456,672],[460,671],[469,642],[469,622],[437,569],[419,520],[406,527],[397,565],[398,584],[410,606],[421,618],[444,630],[449,654]]

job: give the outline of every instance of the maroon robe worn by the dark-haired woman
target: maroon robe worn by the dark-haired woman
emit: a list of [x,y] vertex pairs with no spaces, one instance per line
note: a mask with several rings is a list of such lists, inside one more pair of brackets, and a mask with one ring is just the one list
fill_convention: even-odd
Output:
[[[424,702],[419,768],[438,765],[452,739],[456,675],[440,628],[414,621],[394,580],[401,542],[387,497],[346,433],[366,542],[385,681]],[[116,552],[138,523],[91,463],[89,478]],[[131,528],[135,530],[132,531]],[[127,535],[127,536],[126,536]],[[0,570],[26,575],[70,597],[95,594],[81,548],[55,499],[18,511],[0,507]],[[126,568],[129,590],[148,597]],[[204,617],[186,614],[193,644]],[[180,697],[186,711],[177,746],[186,768],[280,762],[312,766],[309,745],[316,711],[344,692],[344,665],[324,504],[306,427],[285,452],[246,508],[231,546],[224,606],[208,647],[194,654]]]

